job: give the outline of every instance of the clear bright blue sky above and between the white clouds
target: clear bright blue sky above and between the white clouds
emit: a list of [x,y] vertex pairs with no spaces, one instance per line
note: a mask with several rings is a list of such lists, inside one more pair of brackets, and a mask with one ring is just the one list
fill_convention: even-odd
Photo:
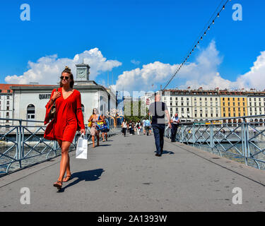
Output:
[[[30,5],[30,21],[20,20],[24,3]],[[29,61],[54,54],[73,59],[95,48],[105,59],[120,63],[110,72],[114,83],[124,71],[141,71],[155,61],[176,67],[218,4],[220,0],[2,1],[0,83],[6,83],[6,76],[23,76],[30,70]],[[242,5],[242,21],[232,20],[233,4]],[[213,44],[220,59],[213,67],[224,80],[235,82],[248,73],[265,51],[264,8],[262,0],[230,1],[188,64],[196,63]],[[99,68],[94,77],[107,83],[107,70]],[[157,87],[167,78],[170,73],[157,80]],[[171,87],[186,82],[184,76],[176,77]]]

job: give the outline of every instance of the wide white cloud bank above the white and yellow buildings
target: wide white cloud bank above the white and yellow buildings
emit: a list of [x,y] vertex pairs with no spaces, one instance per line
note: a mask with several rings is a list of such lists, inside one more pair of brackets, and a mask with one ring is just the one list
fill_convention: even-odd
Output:
[[[193,62],[184,64],[167,88],[187,89],[203,87],[204,89],[237,89],[265,88],[265,52],[257,57],[249,72],[230,81],[223,78],[218,67],[223,63],[223,57],[216,49],[216,42],[211,41],[206,49],[199,49],[199,55]],[[165,86],[179,64],[163,64],[155,61],[143,65],[142,69],[124,71],[117,79],[117,90],[158,90],[160,84]],[[152,84],[154,87],[152,88]]]

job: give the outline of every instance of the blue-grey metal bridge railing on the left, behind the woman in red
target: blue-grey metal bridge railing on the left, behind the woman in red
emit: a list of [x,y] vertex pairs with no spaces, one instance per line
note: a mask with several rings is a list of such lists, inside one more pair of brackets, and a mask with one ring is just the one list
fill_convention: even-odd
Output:
[[[43,138],[47,127],[44,126],[43,121],[2,118],[0,121],[2,121],[0,124],[0,177],[8,174],[8,172],[23,169],[61,155],[57,141]],[[3,121],[11,121],[11,123],[3,123]],[[88,144],[90,144],[92,143],[92,136],[87,126],[86,131]],[[114,136],[120,132],[120,129],[114,129],[111,126],[107,136]],[[78,136],[80,133],[77,132],[69,152],[76,149]]]

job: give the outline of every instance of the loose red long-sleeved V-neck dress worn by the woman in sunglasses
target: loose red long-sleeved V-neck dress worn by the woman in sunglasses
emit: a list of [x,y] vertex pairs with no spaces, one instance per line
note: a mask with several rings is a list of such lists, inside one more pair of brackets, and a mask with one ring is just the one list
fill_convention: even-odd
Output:
[[[61,88],[59,88],[58,91],[61,93]],[[52,90],[51,98],[54,92],[56,92],[55,89]],[[49,107],[48,102],[46,105],[45,124],[49,122],[48,115],[51,107]],[[73,93],[66,99],[64,99],[61,93],[61,96],[56,100],[55,118],[47,126],[44,137],[52,141],[59,139],[61,141],[72,142],[76,130],[80,129],[85,129],[80,92],[78,90],[73,90]]]

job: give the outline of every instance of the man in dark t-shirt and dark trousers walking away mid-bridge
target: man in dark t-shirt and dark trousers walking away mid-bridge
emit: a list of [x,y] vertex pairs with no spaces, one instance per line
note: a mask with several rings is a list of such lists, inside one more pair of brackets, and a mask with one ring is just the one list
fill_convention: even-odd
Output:
[[164,132],[165,132],[165,115],[167,116],[168,125],[172,128],[170,123],[170,114],[167,110],[165,102],[161,102],[159,93],[155,93],[155,102],[151,103],[149,107],[149,115],[152,117],[153,135],[155,136],[155,156],[161,156],[164,146]]

